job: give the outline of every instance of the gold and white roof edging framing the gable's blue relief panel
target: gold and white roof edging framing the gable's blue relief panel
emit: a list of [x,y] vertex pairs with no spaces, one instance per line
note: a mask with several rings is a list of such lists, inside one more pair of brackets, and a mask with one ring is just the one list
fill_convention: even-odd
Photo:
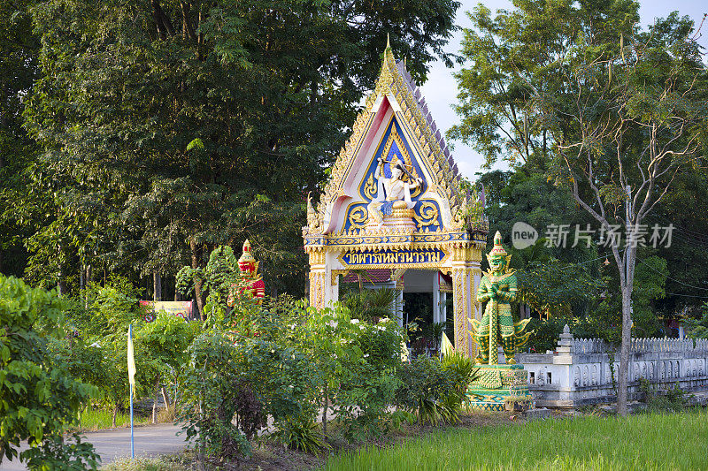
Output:
[[[384,119],[385,116],[389,117],[388,121]],[[388,130],[386,126],[389,126]],[[419,198],[435,201],[435,208],[440,213],[440,223],[436,224],[438,231],[450,230],[453,226],[461,229],[462,219],[468,219],[469,216],[468,207],[480,205],[481,201],[476,195],[471,198],[468,191],[462,190],[458,167],[450,155],[443,133],[435,125],[425,98],[406,70],[404,61],[396,61],[392,49],[387,45],[379,78],[373,92],[366,98],[364,110],[352,125],[349,140],[335,161],[317,210],[308,201],[309,234],[350,233],[351,224],[338,225],[335,219],[350,216],[350,212],[346,211],[350,211],[352,205],[356,205],[362,197],[366,200],[361,186],[356,185],[364,181],[361,180],[362,175],[365,178],[370,175],[366,171],[362,173],[361,169],[372,168],[377,146],[384,146],[384,141],[373,141],[374,136],[382,139],[381,133],[384,131],[384,137],[389,141],[389,136],[396,134],[401,152],[406,154],[406,158],[410,155],[419,176],[425,180],[425,194]],[[455,221],[461,212],[467,216]],[[425,230],[429,232],[431,229],[427,227]]]

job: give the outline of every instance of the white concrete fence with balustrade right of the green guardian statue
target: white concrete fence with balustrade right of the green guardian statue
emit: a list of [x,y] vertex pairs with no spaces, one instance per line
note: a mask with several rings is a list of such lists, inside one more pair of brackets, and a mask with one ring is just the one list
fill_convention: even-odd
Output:
[[[640,398],[641,378],[658,390],[676,384],[684,391],[708,388],[708,339],[633,338],[630,352],[630,399]],[[599,338],[573,338],[566,326],[555,352],[517,353],[516,360],[528,371],[536,406],[577,407],[616,399],[620,351]]]

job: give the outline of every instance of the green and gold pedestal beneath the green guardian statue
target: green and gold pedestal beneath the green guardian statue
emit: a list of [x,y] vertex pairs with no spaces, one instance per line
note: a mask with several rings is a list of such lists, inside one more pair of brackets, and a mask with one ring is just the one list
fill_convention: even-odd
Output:
[[477,379],[467,387],[466,404],[473,410],[503,411],[504,399],[528,395],[523,365],[476,365]]

